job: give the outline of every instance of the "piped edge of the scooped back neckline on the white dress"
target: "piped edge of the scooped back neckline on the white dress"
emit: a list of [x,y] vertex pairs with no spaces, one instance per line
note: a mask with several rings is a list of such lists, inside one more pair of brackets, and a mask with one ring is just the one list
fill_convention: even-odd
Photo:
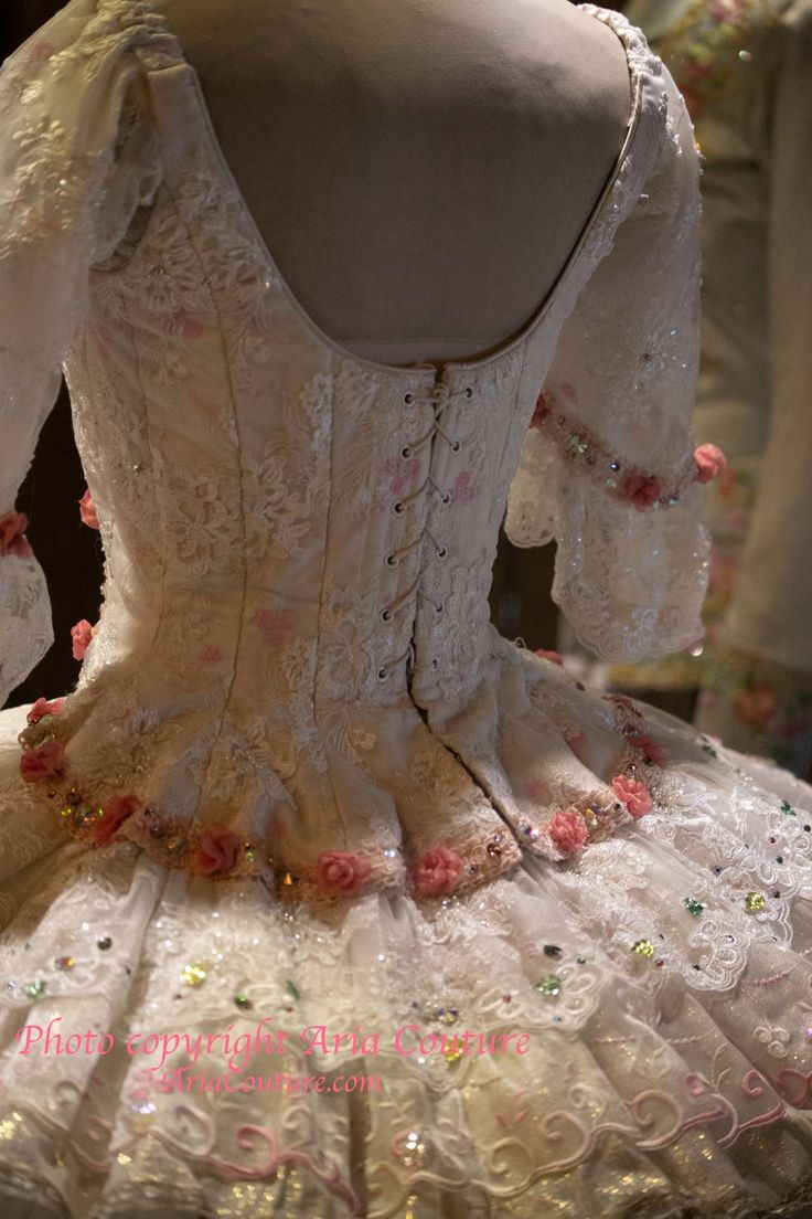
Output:
[[279,291],[285,299],[285,302],[299,317],[306,329],[309,330],[310,334],[323,346],[329,347],[341,360],[351,364],[371,369],[377,373],[386,373],[387,375],[397,374],[399,377],[414,378],[418,373],[425,372],[427,379],[432,380],[446,377],[447,372],[452,369],[460,369],[461,372],[476,373],[480,369],[486,368],[488,364],[493,364],[499,360],[504,360],[510,352],[515,351],[517,347],[528,343],[534,332],[542,324],[551,305],[558,297],[558,294],[562,288],[565,280],[570,277],[572,268],[581,257],[584,246],[588,244],[590,236],[593,235],[599,219],[603,217],[609,197],[617,187],[617,183],[621,178],[621,171],[629,156],[632,143],[639,128],[639,118],[642,113],[640,101],[643,95],[644,73],[639,68],[638,63],[635,63],[634,61],[634,52],[639,50],[642,43],[640,32],[637,30],[633,26],[631,26],[622,13],[615,12],[609,9],[601,9],[594,4],[578,4],[576,5],[576,7],[587,16],[593,17],[597,21],[601,21],[604,24],[609,26],[612,33],[617,35],[621,45],[623,46],[623,51],[626,55],[626,66],[628,69],[628,78],[631,84],[631,93],[632,93],[629,117],[626,127],[623,143],[615,160],[612,171],[609,174],[600,195],[598,196],[598,201],[595,202],[586,226],[581,230],[581,235],[578,236],[575,246],[572,247],[564,267],[561,268],[558,278],[555,279],[555,283],[550,288],[549,293],[547,294],[539,307],[533,313],[533,316],[531,317],[530,322],[521,329],[521,332],[514,339],[499,346],[495,351],[491,352],[491,355],[483,356],[478,360],[466,360],[466,361],[443,360],[443,361],[422,361],[422,362],[415,362],[413,364],[385,364],[375,360],[368,360],[365,356],[355,355],[354,351],[351,351],[348,347],[343,347],[340,343],[337,343],[325,330],[321,329],[321,327],[314,321],[314,318],[310,317],[308,311],[304,308],[302,302],[298,300],[296,294],[287,284],[287,280],[279,269],[276,260],[270,252],[268,243],[259,232],[259,227],[253,217],[251,208],[248,207],[248,204],[240,187],[237,185],[231,166],[229,165],[229,161],[220,144],[219,137],[214,130],[212,116],[208,111],[208,106],[206,105],[206,98],[203,94],[203,88],[201,84],[200,76],[197,74],[196,68],[186,59],[180,39],[178,39],[177,35],[173,35],[180,50],[183,65],[191,73],[191,79],[195,90],[195,99],[197,102],[197,110],[202,118],[203,126],[206,127],[209,146],[219,165],[223,178],[236,201],[237,210],[242,219],[245,221],[246,228],[251,234],[251,238],[257,250],[262,255],[262,258],[265,263],[267,277],[278,286]]

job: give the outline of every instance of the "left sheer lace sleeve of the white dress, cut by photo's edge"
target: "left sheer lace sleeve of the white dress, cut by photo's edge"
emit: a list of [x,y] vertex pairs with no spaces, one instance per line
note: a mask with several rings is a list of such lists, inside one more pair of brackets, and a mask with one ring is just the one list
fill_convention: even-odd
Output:
[[0,706],[52,640],[17,489],[85,318],[88,271],[157,185],[135,7],[74,0],[0,69]]

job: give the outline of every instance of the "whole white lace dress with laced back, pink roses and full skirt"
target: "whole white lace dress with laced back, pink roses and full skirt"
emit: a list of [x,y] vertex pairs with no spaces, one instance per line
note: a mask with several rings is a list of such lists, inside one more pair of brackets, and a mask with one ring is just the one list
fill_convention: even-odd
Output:
[[812,1198],[812,792],[488,620],[506,508],[605,657],[699,629],[698,160],[583,7],[616,172],[525,332],[439,369],[307,317],[149,4],[0,76],[4,694],[62,362],[106,553],[77,690],[0,716],[4,1217]]

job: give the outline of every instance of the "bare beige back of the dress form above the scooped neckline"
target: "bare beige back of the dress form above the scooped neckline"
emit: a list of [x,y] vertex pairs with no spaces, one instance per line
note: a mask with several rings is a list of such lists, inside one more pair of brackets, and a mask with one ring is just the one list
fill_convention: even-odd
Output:
[[441,362],[488,354],[536,313],[628,122],[610,28],[566,0],[158,7],[326,334],[380,362]]

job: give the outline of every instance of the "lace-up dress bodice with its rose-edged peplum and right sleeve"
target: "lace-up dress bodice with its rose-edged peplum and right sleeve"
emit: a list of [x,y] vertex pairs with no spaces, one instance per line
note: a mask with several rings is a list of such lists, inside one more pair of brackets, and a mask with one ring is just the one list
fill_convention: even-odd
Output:
[[[79,836],[101,818],[284,894],[341,890],[329,867],[346,891],[399,884],[437,850],[460,884],[520,848],[555,857],[555,808],[581,801],[598,829],[620,806],[573,753],[555,666],[489,623],[505,510],[520,545],[556,536],[556,595],[599,649],[698,634],[696,163],[670,77],[584,6],[623,41],[633,110],[559,282],[494,355],[393,367],[290,293],[163,18],[95,7],[68,6],[69,49],[19,63],[23,89],[73,60],[119,101],[99,132],[93,88],[74,99],[80,197],[56,179],[52,222],[88,226],[65,372],[106,581],[77,691],[23,734],[58,755],[33,781]],[[46,180],[66,172],[50,156]],[[612,730],[607,713],[604,769]]]

